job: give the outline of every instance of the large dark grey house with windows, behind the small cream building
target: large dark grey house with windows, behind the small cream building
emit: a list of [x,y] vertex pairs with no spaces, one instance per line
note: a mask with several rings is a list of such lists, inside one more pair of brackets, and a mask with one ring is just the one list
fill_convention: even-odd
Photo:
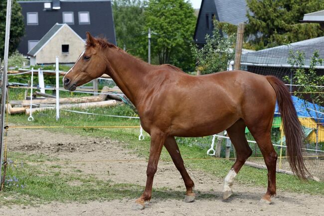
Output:
[[[55,23],[66,23],[81,38],[86,31],[116,44],[111,0],[24,0],[25,35],[18,51],[26,55]],[[78,55],[77,55],[78,56]],[[75,56],[75,57],[77,57]]]

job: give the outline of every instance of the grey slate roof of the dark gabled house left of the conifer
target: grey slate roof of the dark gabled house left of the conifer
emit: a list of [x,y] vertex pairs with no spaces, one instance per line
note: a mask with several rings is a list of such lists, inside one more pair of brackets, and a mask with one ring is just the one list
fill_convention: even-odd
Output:
[[214,0],[218,21],[237,25],[246,22],[247,5],[245,0]]

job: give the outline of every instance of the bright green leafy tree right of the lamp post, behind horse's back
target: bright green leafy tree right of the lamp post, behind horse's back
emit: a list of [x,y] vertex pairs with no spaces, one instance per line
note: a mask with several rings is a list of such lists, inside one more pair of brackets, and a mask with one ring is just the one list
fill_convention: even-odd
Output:
[[194,9],[185,0],[150,0],[145,9],[146,31],[152,36],[152,55],[159,63],[171,63],[183,70],[193,68],[190,44],[196,23]]

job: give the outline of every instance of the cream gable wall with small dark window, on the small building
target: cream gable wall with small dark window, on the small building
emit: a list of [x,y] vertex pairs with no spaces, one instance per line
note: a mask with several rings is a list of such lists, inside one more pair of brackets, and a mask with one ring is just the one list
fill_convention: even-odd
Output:
[[[62,44],[69,44],[69,53],[62,54]],[[58,56],[60,63],[75,62],[84,50],[82,41],[68,26],[63,26],[57,34],[36,54],[36,64],[55,63]]]

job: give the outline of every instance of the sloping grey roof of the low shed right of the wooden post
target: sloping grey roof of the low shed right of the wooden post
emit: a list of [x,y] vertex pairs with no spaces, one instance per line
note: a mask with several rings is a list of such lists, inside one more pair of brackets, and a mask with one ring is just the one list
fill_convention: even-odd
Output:
[[288,65],[289,51],[297,50],[305,53],[305,65],[310,65],[311,57],[315,50],[319,51],[320,57],[324,57],[324,36],[308,40],[302,40],[289,45],[281,45],[255,52],[242,54],[241,62],[255,64]]

